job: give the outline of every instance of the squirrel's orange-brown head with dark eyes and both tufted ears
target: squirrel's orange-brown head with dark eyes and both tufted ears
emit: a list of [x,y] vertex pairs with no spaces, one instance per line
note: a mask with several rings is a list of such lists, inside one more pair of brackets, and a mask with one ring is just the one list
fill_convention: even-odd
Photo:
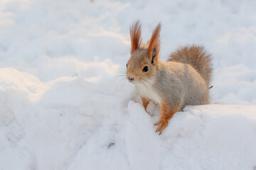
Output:
[[154,78],[157,70],[160,49],[160,30],[159,23],[153,30],[148,47],[142,45],[142,30],[139,21],[130,27],[131,36],[131,57],[127,62],[127,79],[135,84],[143,84]]

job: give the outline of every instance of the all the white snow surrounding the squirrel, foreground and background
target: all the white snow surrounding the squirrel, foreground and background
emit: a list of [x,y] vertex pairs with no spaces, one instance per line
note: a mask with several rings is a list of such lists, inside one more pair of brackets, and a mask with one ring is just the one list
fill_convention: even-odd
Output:
[[[0,1],[0,169],[256,169],[256,1]],[[129,26],[161,60],[213,55],[211,103],[155,133],[123,76]]]

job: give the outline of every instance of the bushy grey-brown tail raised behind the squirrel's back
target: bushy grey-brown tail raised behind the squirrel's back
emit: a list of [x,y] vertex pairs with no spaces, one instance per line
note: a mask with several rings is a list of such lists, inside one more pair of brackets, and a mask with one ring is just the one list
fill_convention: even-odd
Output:
[[209,85],[212,68],[210,55],[201,46],[181,47],[172,53],[168,61],[191,64]]

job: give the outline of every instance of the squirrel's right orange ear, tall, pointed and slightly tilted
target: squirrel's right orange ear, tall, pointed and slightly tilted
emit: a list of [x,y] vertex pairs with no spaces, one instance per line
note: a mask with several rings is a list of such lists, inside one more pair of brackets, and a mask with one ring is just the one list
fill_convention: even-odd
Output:
[[151,39],[150,39],[150,42],[149,42],[149,47],[148,47],[148,50],[147,50],[152,64],[157,62],[157,60],[159,58],[160,30],[161,30],[161,23],[159,23],[156,26],[156,28],[153,30],[153,33],[151,35]]

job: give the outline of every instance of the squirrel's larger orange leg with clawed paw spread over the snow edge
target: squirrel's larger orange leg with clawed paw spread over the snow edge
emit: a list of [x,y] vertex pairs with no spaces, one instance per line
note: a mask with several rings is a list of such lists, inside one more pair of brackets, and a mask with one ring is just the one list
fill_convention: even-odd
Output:
[[161,103],[160,109],[161,109],[161,119],[157,123],[154,124],[154,125],[158,125],[156,132],[159,132],[159,135],[161,135],[163,130],[167,127],[169,120],[174,115],[174,113],[176,113],[180,110],[180,106],[170,108],[168,104]]

